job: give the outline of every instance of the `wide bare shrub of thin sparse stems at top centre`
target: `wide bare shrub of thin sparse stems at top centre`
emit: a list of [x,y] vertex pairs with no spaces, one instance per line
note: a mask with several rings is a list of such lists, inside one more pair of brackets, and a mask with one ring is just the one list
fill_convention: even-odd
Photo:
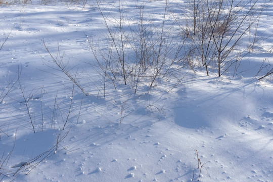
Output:
[[183,61],[185,41],[178,36],[179,32],[172,31],[174,21],[170,20],[169,1],[165,1],[160,23],[145,13],[144,1],[136,5],[138,14],[134,19],[127,18],[121,1],[112,5],[99,0],[96,3],[107,31],[107,47],[95,44],[93,38],[89,39],[89,45],[101,70],[104,90],[107,81],[115,89],[116,85],[129,84],[134,93],[140,87],[156,87],[158,80],[181,82],[181,67],[177,63]]

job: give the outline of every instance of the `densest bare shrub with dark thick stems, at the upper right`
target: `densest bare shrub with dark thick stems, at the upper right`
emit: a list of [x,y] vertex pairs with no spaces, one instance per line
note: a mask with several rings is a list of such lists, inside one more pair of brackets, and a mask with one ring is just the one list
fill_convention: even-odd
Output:
[[[257,0],[200,0],[194,1],[189,27],[194,27],[192,40],[196,45],[201,65],[215,70],[221,76],[230,67],[235,70],[238,61],[258,42],[257,27],[264,7]],[[250,39],[250,33],[255,36]],[[248,42],[248,43],[245,43]]]

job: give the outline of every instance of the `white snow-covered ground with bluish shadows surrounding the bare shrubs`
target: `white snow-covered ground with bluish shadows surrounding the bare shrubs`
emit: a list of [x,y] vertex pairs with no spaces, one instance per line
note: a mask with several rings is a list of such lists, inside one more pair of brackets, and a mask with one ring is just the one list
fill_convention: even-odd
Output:
[[[108,2],[103,11],[117,13],[118,3]],[[143,5],[121,2],[132,20]],[[160,22],[165,1],[144,2]],[[181,3],[169,5],[177,17]],[[273,63],[269,5],[257,29],[266,38],[235,76],[233,70],[206,76],[205,69],[186,66],[171,90],[162,81],[134,94],[120,84],[106,87],[106,98],[90,49],[89,37],[105,44],[107,32],[95,2],[0,6],[0,46],[8,37],[0,50],[0,101],[7,93],[0,104],[0,179],[272,181],[273,81],[254,78],[264,59]],[[76,73],[87,96],[47,49]]]

